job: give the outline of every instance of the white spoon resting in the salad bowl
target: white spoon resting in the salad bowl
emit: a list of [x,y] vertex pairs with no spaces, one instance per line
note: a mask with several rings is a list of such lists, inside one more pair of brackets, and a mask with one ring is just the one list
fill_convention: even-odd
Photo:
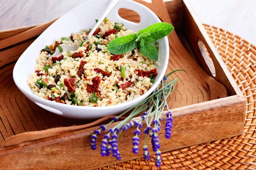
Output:
[[[95,24],[95,26],[92,28],[90,33],[87,35],[85,40],[88,39],[88,37],[91,37],[96,31],[96,29],[99,27],[99,25],[102,23],[102,21],[105,19],[105,17],[108,15],[108,13],[113,9],[113,7],[118,3],[119,0],[111,0],[110,3],[108,4],[108,7],[102,14],[102,16],[99,18],[98,22]],[[62,51],[76,51],[80,46],[74,46],[74,45],[66,45],[66,44],[61,44],[61,48],[63,49]],[[52,57],[60,55],[62,52],[58,48],[56,48],[55,53],[52,54]]]

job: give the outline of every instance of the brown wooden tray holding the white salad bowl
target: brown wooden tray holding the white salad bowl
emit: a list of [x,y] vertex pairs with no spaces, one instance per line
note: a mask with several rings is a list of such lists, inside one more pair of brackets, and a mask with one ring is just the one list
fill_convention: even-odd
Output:
[[[168,37],[167,72],[188,71],[174,75],[179,82],[169,98],[173,135],[167,140],[164,130],[160,131],[161,151],[241,134],[246,100],[187,0],[138,2],[175,26]],[[119,14],[127,20],[140,20],[134,11],[122,9]],[[131,153],[133,129],[119,137],[121,161],[101,157],[99,149],[90,150],[93,130],[111,116],[91,123],[62,118],[39,108],[18,91],[12,79],[15,61],[51,23],[0,33],[0,169],[93,169],[143,157],[142,144],[137,155]],[[163,123],[165,119],[163,116]]]

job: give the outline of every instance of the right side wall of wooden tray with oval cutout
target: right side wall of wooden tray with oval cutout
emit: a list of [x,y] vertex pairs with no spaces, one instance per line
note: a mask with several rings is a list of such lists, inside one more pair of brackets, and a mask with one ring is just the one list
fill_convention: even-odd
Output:
[[[197,55],[201,67],[204,68],[207,74],[223,84],[230,95],[243,96],[203,25],[200,23],[198,17],[196,17],[188,0],[183,0],[183,3],[183,29],[187,33],[192,51]],[[209,57],[206,57],[207,51],[204,50],[204,47],[207,49],[212,61]],[[210,67],[208,67],[208,65],[210,65]]]

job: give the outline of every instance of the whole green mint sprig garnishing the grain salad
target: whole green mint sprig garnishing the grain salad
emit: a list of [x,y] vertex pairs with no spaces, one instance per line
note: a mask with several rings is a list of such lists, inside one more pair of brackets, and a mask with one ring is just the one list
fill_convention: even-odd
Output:
[[154,23],[137,34],[130,34],[112,40],[108,44],[108,51],[112,54],[124,54],[134,48],[140,47],[140,52],[149,59],[157,61],[158,51],[152,42],[166,37],[174,27],[169,23]]

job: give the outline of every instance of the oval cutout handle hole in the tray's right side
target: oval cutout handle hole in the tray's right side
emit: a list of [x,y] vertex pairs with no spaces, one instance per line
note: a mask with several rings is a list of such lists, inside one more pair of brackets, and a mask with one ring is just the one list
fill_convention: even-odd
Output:
[[209,71],[211,72],[212,76],[215,77],[216,72],[215,72],[214,64],[213,64],[211,58],[209,57],[209,54],[206,50],[206,46],[204,45],[204,42],[200,39],[198,39],[198,48],[199,48],[199,51],[202,54],[202,57],[204,58],[204,61],[205,61],[206,65],[209,68]]

